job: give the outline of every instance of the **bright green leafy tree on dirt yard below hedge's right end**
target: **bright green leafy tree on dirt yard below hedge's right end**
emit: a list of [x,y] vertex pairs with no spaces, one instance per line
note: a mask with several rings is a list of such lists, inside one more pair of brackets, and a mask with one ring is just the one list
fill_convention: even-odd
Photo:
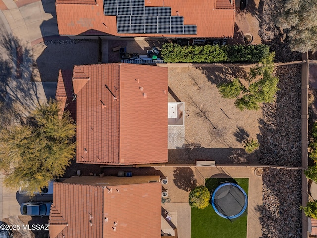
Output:
[[[241,85],[239,79],[235,79],[230,83],[221,84],[218,86],[219,92],[224,98],[235,98],[241,93],[241,98],[236,99],[235,106],[241,111],[258,110],[260,103],[269,103],[274,100],[278,78],[273,75],[275,53],[270,53],[267,57],[260,60],[259,64],[250,69],[246,80],[249,82],[249,87],[245,88]],[[260,79],[257,79],[261,77]]]

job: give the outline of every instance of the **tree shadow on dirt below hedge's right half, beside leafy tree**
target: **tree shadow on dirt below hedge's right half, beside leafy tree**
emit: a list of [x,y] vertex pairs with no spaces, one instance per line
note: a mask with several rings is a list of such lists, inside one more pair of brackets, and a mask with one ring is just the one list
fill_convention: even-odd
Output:
[[217,65],[210,64],[208,67],[197,66],[196,68],[202,71],[208,81],[217,86],[223,83],[228,83],[234,78],[247,77],[247,72],[243,67],[219,67]]

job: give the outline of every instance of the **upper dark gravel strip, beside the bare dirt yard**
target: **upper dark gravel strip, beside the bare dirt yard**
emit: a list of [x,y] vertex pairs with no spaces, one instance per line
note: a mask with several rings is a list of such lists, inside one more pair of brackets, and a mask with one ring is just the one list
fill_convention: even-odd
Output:
[[263,105],[261,163],[301,166],[301,66],[276,67],[276,100]]

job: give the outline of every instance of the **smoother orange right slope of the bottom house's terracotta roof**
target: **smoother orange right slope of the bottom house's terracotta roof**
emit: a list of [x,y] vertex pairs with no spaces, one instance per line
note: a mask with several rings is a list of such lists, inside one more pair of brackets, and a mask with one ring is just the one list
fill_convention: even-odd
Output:
[[[158,182],[110,186],[104,191],[104,238],[160,238],[161,191]],[[117,222],[116,230],[113,225]]]

